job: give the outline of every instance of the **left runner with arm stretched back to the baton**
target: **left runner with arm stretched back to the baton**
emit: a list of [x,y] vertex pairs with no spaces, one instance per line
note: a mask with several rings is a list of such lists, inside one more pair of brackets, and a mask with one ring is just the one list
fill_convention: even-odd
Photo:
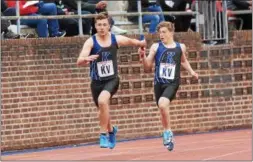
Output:
[[109,101],[119,87],[117,49],[120,46],[145,47],[146,42],[112,34],[109,17],[105,13],[100,13],[95,18],[95,28],[97,34],[84,43],[77,65],[90,63],[91,92],[99,108],[100,147],[113,149],[116,144],[117,127],[111,126]]

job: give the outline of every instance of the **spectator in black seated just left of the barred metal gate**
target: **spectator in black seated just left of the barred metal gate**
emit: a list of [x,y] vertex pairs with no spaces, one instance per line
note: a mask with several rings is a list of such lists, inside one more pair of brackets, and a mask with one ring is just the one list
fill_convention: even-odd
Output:
[[[159,4],[162,7],[164,12],[168,11],[188,11],[190,12],[190,6],[192,0],[158,0]],[[175,23],[175,32],[186,32],[190,28],[191,19],[193,16],[184,15],[184,16],[170,16],[166,15],[165,20]]]

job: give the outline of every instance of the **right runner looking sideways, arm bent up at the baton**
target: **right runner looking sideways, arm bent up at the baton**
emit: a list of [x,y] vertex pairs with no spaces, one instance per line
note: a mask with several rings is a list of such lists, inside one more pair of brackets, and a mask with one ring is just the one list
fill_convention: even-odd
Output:
[[160,41],[151,46],[149,55],[145,55],[145,48],[139,48],[138,52],[143,58],[145,72],[150,72],[155,62],[154,93],[164,128],[163,144],[172,151],[174,143],[169,120],[169,105],[180,84],[180,68],[183,66],[196,79],[198,74],[192,70],[185,56],[185,45],[174,41],[174,24],[161,22],[157,29]]

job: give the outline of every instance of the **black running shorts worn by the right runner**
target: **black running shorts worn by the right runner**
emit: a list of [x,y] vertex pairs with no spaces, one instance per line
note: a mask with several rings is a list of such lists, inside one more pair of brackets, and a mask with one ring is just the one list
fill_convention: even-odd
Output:
[[159,83],[157,82],[154,86],[156,104],[160,97],[165,97],[170,100],[170,102],[175,98],[179,84],[172,83]]

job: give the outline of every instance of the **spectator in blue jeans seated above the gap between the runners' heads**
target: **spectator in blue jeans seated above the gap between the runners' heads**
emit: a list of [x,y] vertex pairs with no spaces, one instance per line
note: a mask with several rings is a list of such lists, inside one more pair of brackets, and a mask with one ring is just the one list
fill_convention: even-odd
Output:
[[[157,2],[150,2],[149,0],[141,1],[142,12],[162,12],[160,5]],[[128,12],[137,12],[137,1],[128,0]],[[138,22],[138,16],[128,16],[129,21]],[[164,21],[164,15],[143,15],[142,23],[150,23],[149,25],[149,33],[156,33],[157,25]]]

